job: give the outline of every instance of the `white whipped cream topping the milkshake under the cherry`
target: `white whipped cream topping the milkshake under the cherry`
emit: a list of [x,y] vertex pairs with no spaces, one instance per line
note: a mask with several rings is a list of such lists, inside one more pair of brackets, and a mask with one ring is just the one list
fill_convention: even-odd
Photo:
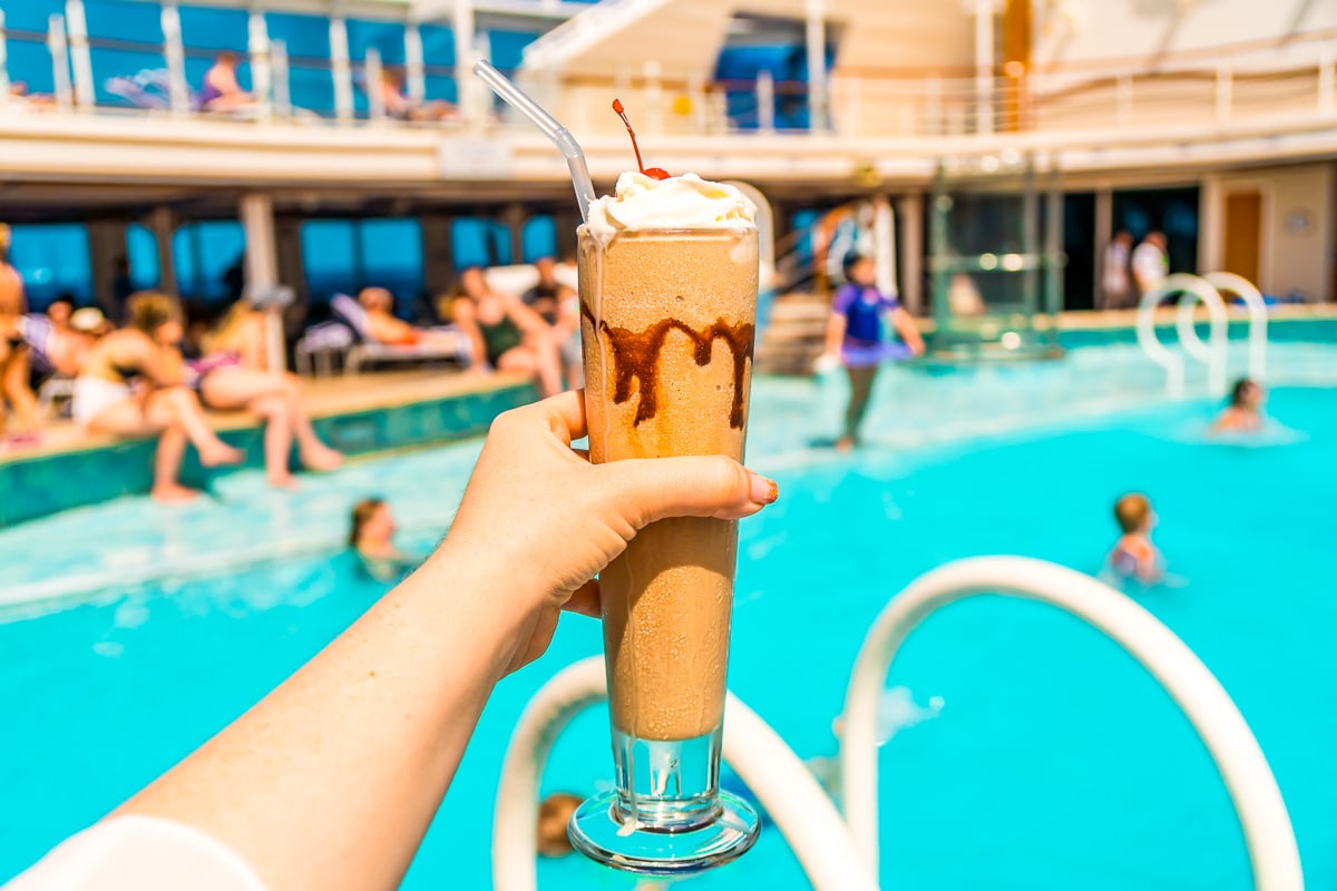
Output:
[[643,228],[755,228],[757,206],[725,183],[695,174],[652,179],[636,171],[618,178],[614,195],[590,204],[586,226],[607,242],[623,230]]

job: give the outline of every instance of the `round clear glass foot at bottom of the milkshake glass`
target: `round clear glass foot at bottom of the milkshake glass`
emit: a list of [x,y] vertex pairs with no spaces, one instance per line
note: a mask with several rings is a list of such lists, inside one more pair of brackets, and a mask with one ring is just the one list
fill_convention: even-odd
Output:
[[660,830],[623,816],[618,792],[596,795],[571,815],[567,835],[576,851],[623,872],[685,876],[741,856],[761,830],[757,812],[731,792],[707,822]]

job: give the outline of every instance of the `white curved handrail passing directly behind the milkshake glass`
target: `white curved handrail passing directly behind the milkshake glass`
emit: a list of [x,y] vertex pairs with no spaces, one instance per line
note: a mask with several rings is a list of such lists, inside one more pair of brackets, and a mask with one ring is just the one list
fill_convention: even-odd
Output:
[[[607,697],[603,659],[560,671],[535,693],[516,724],[501,764],[492,827],[492,887],[535,891],[537,791],[543,765],[562,729]],[[733,693],[725,707],[723,759],[755,793],[794,850],[817,891],[877,891],[860,866],[840,812],[804,763]]]

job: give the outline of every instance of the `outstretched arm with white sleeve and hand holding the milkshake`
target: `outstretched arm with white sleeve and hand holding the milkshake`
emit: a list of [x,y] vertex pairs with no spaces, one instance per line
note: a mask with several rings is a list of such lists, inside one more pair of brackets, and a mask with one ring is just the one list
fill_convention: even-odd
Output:
[[492,691],[563,610],[599,616],[598,573],[636,532],[778,497],[722,456],[592,465],[583,435],[580,393],[499,415],[417,572],[12,891],[398,887]]

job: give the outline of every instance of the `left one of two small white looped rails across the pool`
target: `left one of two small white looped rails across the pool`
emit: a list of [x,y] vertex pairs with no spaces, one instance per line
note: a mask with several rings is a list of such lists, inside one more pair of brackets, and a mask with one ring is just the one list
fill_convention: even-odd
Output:
[[[1226,303],[1221,299],[1206,279],[1197,275],[1177,273],[1166,277],[1159,285],[1142,295],[1138,303],[1138,343],[1147,353],[1152,362],[1166,370],[1166,385],[1170,395],[1179,398],[1183,395],[1183,357],[1171,353],[1157,338],[1155,311],[1166,294],[1183,291],[1191,294],[1193,299],[1181,299],[1178,311],[1179,339],[1189,355],[1207,365],[1207,386],[1214,395],[1223,395],[1226,391]],[[1197,301],[1202,301],[1211,318],[1210,342],[1203,345],[1193,330],[1193,309]]]

